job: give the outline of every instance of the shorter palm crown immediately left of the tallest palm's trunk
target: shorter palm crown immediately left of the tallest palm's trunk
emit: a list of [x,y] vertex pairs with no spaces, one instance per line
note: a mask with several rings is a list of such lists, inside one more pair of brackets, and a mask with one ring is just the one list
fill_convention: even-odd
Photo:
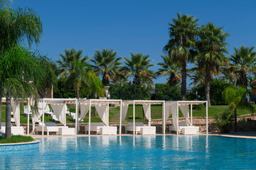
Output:
[[181,64],[179,62],[174,63],[168,55],[161,55],[164,62],[158,62],[157,64],[161,67],[156,75],[165,76],[169,75],[168,84],[169,86],[175,86],[181,81]]

